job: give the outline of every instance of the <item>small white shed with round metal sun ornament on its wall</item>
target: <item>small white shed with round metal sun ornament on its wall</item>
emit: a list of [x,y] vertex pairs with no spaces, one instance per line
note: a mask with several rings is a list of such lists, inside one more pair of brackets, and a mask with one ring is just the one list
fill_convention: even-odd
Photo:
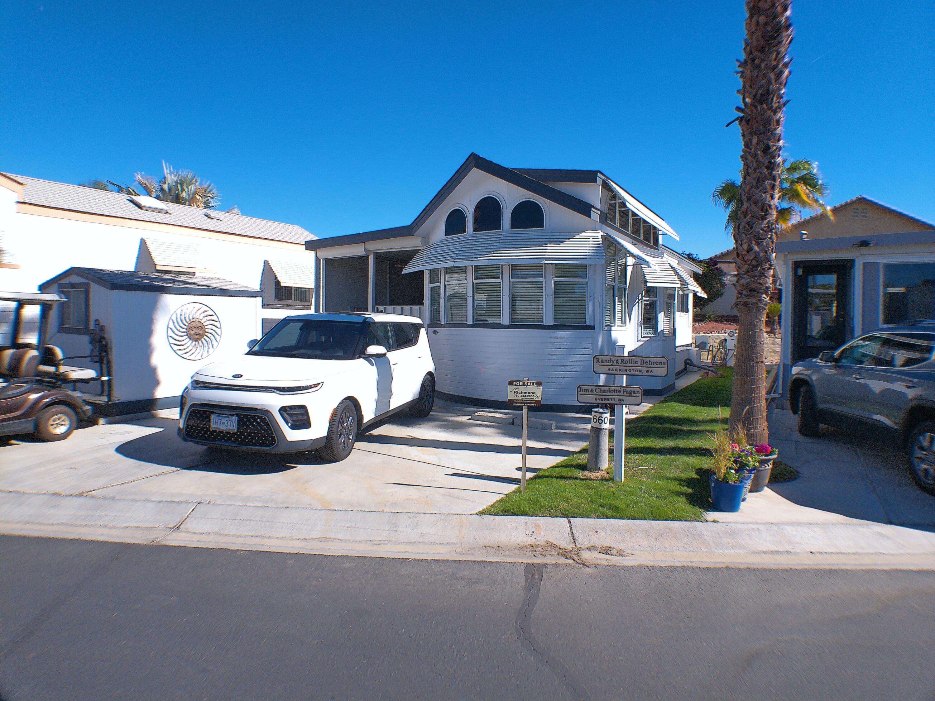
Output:
[[99,369],[81,356],[107,339],[112,396],[93,397],[103,416],[178,406],[195,370],[260,336],[260,291],[228,279],[71,267],[39,289],[67,299],[50,320],[50,344],[69,365]]

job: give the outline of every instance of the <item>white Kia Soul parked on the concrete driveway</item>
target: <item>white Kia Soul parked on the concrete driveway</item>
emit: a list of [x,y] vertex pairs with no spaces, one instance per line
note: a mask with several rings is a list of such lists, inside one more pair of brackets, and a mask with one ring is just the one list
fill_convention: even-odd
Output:
[[236,360],[202,367],[181,396],[179,436],[238,451],[319,451],[343,460],[362,428],[435,404],[420,319],[396,314],[286,317]]

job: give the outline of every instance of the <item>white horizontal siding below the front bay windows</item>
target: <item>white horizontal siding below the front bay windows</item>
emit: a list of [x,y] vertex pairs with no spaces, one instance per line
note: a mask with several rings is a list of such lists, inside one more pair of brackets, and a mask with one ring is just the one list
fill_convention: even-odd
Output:
[[544,404],[576,404],[577,386],[597,380],[590,330],[439,328],[428,341],[443,393],[505,402],[507,381],[529,378]]

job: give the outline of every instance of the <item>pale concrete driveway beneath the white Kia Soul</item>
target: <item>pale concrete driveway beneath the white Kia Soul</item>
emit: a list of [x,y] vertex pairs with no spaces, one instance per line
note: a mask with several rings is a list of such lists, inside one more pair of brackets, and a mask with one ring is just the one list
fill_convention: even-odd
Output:
[[[361,436],[351,456],[328,464],[218,451],[183,443],[177,422],[151,419],[82,428],[60,443],[0,444],[0,491],[295,506],[365,511],[474,513],[519,483],[519,426],[469,421],[476,411],[439,401],[427,419],[409,414]],[[554,431],[529,431],[528,465],[553,465],[587,442],[589,417],[534,414]]]

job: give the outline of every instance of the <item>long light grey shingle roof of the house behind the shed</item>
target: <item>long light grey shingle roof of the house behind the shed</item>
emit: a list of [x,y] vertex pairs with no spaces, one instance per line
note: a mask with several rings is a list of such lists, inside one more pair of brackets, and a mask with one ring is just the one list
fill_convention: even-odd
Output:
[[[270,222],[265,219],[245,217],[214,209],[186,207],[166,202],[168,213],[147,211],[137,207],[129,195],[96,190],[82,185],[69,185],[65,182],[28,178],[26,176],[0,174],[22,187],[17,201],[24,205],[48,207],[65,211],[96,214],[115,219],[129,219],[138,222],[154,222],[189,229],[215,231],[236,236],[265,238],[286,243],[305,243],[315,236],[301,226]],[[118,223],[118,222],[114,222]]]

